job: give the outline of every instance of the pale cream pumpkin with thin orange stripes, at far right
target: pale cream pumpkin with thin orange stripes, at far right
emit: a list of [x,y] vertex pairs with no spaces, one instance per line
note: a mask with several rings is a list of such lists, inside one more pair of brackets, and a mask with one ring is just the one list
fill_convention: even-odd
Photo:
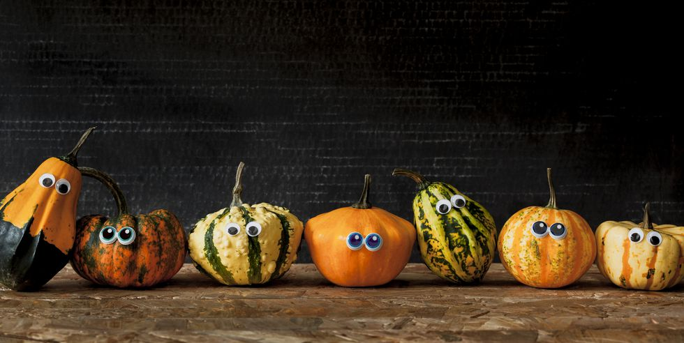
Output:
[[684,227],[650,222],[603,222],[596,229],[596,264],[611,282],[626,289],[660,291],[682,280]]

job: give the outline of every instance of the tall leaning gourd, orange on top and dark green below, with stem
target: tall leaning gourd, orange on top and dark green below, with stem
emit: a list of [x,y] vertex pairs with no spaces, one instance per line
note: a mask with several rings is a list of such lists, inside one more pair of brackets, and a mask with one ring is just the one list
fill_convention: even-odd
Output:
[[76,155],[48,158],[0,201],[0,284],[34,291],[64,268],[74,241],[81,173]]

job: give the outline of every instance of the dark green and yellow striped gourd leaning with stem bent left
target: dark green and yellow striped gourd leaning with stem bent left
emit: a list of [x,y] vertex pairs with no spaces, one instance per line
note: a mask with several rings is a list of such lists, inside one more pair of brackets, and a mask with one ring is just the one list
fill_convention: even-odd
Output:
[[458,283],[482,280],[496,253],[496,225],[486,209],[454,186],[394,169],[418,185],[413,199],[420,256],[433,273]]

